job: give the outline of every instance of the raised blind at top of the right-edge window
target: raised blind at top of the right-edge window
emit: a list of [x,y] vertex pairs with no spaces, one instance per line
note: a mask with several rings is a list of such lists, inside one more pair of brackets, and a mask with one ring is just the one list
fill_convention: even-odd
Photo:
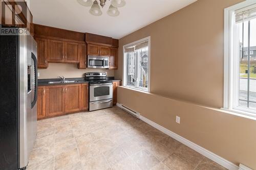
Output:
[[237,23],[256,18],[256,4],[250,7],[237,10],[235,13]]

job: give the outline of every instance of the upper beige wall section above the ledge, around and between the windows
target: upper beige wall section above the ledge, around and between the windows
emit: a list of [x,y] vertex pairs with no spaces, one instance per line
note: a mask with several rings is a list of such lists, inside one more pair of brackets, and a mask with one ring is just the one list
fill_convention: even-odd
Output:
[[206,106],[223,106],[224,8],[241,0],[199,0],[119,40],[151,36],[151,92]]

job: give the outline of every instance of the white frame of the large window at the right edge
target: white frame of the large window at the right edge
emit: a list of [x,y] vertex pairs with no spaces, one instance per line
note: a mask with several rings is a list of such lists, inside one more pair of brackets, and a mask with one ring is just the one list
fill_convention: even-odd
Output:
[[233,50],[234,12],[255,4],[255,0],[247,0],[224,9],[224,110],[234,112],[236,115],[256,117],[256,111],[249,108],[237,107],[239,94],[239,60],[237,52]]

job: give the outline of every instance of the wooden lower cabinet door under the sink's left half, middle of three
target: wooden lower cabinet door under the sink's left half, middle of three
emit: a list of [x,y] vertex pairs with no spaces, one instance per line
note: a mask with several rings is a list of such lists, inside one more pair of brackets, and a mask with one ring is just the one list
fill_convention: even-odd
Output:
[[65,88],[62,85],[46,86],[46,116],[65,113]]

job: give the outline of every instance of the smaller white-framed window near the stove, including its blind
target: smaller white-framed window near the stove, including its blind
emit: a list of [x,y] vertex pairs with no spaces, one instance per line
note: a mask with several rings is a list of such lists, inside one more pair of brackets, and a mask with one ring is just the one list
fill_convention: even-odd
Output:
[[124,86],[149,91],[150,37],[123,46]]

